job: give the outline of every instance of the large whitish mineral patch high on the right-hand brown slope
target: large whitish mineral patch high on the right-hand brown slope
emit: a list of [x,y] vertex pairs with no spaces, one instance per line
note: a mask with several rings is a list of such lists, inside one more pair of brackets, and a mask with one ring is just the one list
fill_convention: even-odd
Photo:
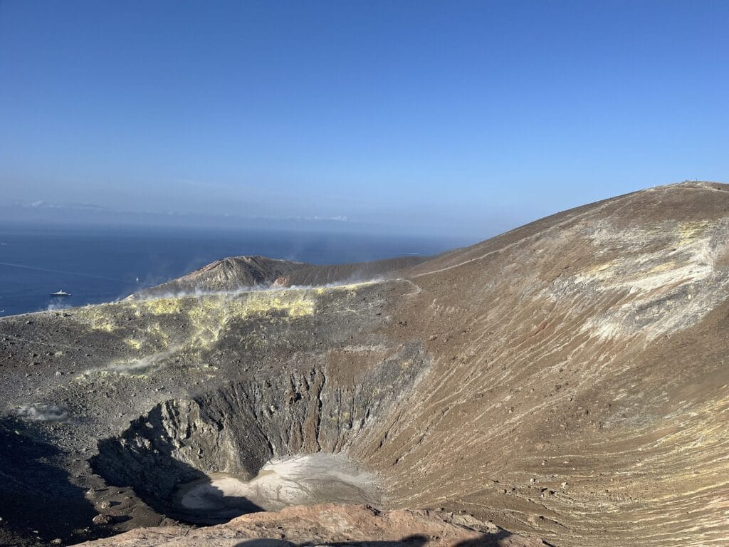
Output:
[[[621,303],[585,323],[583,331],[602,339],[641,332],[651,340],[688,327],[719,304],[717,290],[729,282],[726,272],[714,267],[727,229],[726,220],[625,230],[601,222],[590,234],[598,255],[617,251],[620,258],[555,282],[547,295],[622,291]],[[660,247],[647,250],[649,244]]]

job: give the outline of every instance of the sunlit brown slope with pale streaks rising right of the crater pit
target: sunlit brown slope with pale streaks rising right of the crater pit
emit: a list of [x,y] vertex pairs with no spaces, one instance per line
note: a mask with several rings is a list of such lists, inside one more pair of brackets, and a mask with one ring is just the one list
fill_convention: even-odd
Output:
[[410,271],[402,335],[434,361],[389,438],[398,504],[560,546],[728,543],[727,189],[613,198]]

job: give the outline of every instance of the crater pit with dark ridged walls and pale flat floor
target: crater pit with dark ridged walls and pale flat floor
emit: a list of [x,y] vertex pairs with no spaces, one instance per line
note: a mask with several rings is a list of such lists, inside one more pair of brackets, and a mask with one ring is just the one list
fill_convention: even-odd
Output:
[[215,524],[300,503],[376,503],[362,442],[424,368],[419,344],[358,379],[308,373],[172,399],[98,443],[95,473],[157,513]]

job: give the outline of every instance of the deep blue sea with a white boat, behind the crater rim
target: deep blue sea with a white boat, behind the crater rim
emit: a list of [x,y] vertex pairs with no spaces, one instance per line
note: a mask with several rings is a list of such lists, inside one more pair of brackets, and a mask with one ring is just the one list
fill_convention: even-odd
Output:
[[[469,243],[351,233],[0,225],[0,316],[111,302],[228,256],[335,264],[434,255]],[[71,296],[50,297],[58,290]]]

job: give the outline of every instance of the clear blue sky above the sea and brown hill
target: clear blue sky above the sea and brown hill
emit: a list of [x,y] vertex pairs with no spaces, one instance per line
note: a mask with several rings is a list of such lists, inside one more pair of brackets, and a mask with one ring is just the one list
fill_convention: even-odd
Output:
[[16,210],[485,238],[684,179],[729,182],[728,1],[0,0]]

